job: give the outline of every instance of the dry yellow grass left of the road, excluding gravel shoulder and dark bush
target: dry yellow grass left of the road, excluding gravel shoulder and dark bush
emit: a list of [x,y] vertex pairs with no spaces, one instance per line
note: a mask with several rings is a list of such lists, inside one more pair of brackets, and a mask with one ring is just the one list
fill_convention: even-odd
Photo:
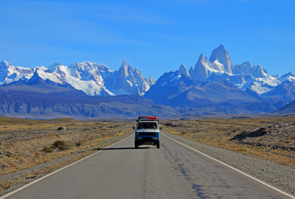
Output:
[[[6,129],[0,127],[0,131],[3,132],[0,135],[0,138],[3,138],[0,141],[0,151],[5,150],[11,154],[10,157],[0,155],[0,165],[1,163],[6,165],[0,170],[0,175],[30,168],[102,144],[115,136],[130,132],[132,126],[130,123],[129,128],[126,128],[126,122],[71,123],[72,121],[65,124],[44,124],[41,121],[34,125],[10,124],[6,125],[8,127]],[[65,131],[57,131],[60,126],[65,126]],[[56,140],[64,140],[70,149],[65,151],[55,149],[52,153],[41,152],[43,147],[50,146]]]

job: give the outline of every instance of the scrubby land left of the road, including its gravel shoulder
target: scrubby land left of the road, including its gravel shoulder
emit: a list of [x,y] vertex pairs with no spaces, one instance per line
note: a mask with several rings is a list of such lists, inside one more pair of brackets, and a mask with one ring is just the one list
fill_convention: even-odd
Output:
[[[132,125],[136,123],[0,117],[0,124],[2,195],[13,186],[23,185],[123,139],[133,132]],[[59,127],[65,128],[57,130]],[[14,177],[9,178],[10,174]]]

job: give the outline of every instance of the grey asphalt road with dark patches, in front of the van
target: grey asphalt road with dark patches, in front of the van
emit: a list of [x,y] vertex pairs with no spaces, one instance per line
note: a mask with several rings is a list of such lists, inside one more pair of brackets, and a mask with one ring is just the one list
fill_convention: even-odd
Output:
[[7,198],[289,198],[164,135],[160,149],[134,136]]

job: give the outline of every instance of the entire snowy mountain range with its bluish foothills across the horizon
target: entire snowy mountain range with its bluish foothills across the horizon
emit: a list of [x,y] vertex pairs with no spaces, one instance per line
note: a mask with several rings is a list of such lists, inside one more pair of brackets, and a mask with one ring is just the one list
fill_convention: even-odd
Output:
[[194,68],[187,70],[182,64],[158,80],[151,75],[144,78],[138,68],[127,66],[125,59],[119,70],[88,61],[35,68],[0,62],[0,115],[4,116],[78,119],[144,113],[269,113],[294,100],[295,76],[291,72],[271,76],[248,61],[233,65],[223,45],[214,49],[209,59],[201,54]]

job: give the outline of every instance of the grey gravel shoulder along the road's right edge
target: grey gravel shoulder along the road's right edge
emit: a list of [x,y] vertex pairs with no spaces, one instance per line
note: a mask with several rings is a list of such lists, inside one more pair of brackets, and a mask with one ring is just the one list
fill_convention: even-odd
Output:
[[244,155],[228,149],[209,146],[165,131],[162,131],[162,133],[295,196],[294,167]]

